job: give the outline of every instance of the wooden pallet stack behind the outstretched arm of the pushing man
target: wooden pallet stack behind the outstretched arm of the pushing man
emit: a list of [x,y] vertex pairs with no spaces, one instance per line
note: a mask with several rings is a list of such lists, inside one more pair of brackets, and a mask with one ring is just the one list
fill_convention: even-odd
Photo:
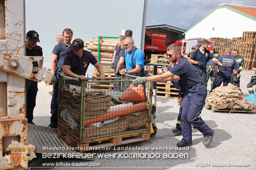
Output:
[[[163,64],[164,66],[170,66],[169,59],[163,59],[164,55],[151,54],[151,63]],[[152,66],[151,66],[152,67]],[[159,68],[160,69],[160,68]],[[174,87],[171,81],[168,82],[157,82],[157,97],[174,97],[177,98],[179,90]]]

